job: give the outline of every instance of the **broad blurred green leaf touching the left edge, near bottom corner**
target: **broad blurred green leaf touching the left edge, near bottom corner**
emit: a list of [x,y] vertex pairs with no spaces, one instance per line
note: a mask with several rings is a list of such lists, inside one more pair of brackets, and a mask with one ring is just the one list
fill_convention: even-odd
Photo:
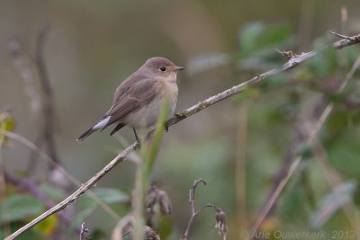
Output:
[[[4,211],[3,208],[6,208]],[[39,215],[44,211],[44,204],[34,197],[26,194],[18,194],[4,200],[0,209],[0,224],[5,221],[17,221]]]

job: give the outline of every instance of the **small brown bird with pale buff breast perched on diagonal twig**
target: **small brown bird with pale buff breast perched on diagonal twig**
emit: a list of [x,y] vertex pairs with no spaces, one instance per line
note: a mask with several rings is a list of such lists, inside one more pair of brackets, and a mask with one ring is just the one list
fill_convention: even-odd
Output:
[[176,67],[166,58],[149,58],[138,71],[118,86],[112,107],[103,118],[76,141],[116,123],[110,135],[129,125],[139,143],[136,129],[154,125],[164,101],[170,102],[169,117],[174,114],[177,102],[176,74],[183,69],[184,67]]

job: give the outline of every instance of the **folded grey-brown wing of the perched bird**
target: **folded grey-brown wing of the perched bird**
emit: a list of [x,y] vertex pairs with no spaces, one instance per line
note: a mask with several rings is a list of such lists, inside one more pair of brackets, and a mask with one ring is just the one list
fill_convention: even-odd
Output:
[[154,99],[156,93],[154,84],[157,80],[141,76],[132,80],[132,83],[126,81],[116,90],[112,108],[104,116],[104,118],[110,116],[110,119],[103,129]]

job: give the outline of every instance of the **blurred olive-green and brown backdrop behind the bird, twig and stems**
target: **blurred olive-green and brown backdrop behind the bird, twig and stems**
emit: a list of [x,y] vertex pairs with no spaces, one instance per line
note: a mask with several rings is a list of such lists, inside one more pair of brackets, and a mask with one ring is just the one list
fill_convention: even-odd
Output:
[[[341,19],[344,7],[346,22]],[[44,121],[40,109],[31,105],[40,99],[33,53],[40,29],[49,24],[44,58],[53,90],[58,156],[69,173],[86,182],[132,143],[134,137],[130,129],[121,129],[116,138],[109,137],[106,129],[80,144],[75,139],[103,116],[117,85],[146,59],[160,56],[186,67],[178,74],[176,110],[180,111],[257,73],[281,66],[285,58],[276,49],[301,53],[334,40],[328,30],[358,33],[358,13],[357,0],[2,1],[0,108],[11,109],[16,121],[14,132],[31,141],[39,137]],[[9,51],[14,36],[21,40],[25,64],[33,74],[36,94],[32,96],[26,92],[26,84]],[[178,239],[184,233],[190,217],[188,190],[199,178],[208,184],[198,188],[196,205],[211,202],[227,214],[229,239],[243,239],[247,235],[284,164],[284,156],[296,136],[295,123],[324,94],[323,86],[344,79],[358,57],[358,47],[342,54],[332,51],[326,54],[299,70],[267,79],[246,93],[217,103],[176,124],[164,135],[151,175],[151,180],[156,180],[172,200],[173,212],[171,219],[165,220],[164,239]],[[359,93],[356,80],[351,82],[350,89],[341,98],[329,98],[336,102],[335,109],[320,132],[331,171],[324,173],[311,148],[302,145],[306,157],[266,218],[263,231],[311,229],[326,231],[330,236],[334,230],[354,230],[352,222],[356,218],[341,209],[347,206],[356,213],[359,207],[356,192],[360,173],[360,115],[358,105],[344,103],[348,98],[356,101]],[[31,150],[10,140],[10,146],[2,148],[5,171],[33,179],[49,190],[45,187],[50,186],[48,164],[38,159],[31,162],[35,169],[27,173],[30,155]],[[121,163],[96,188],[115,189],[129,196],[134,187],[135,168],[133,163]],[[341,181],[331,186],[325,174],[340,176]],[[336,187],[343,187],[349,200],[339,204],[331,199]],[[71,191],[58,191],[57,197],[51,198],[62,200],[66,192]],[[17,194],[28,193],[9,185],[7,198]],[[328,206],[327,198],[337,208],[321,222],[317,219],[321,208]],[[39,211],[20,213],[14,219],[14,229],[45,209],[40,203],[35,205]],[[112,202],[110,206],[121,216],[129,210],[129,203]],[[94,239],[109,239],[116,221],[102,209],[84,213],[82,208],[78,200],[67,209],[74,218],[74,226],[85,221]],[[3,226],[4,222],[3,219]],[[205,209],[195,219],[190,238],[220,239],[214,225],[213,212]],[[55,227],[33,229],[23,239],[52,239],[57,223],[49,221],[49,226]],[[63,231],[67,239],[78,239],[67,228]]]

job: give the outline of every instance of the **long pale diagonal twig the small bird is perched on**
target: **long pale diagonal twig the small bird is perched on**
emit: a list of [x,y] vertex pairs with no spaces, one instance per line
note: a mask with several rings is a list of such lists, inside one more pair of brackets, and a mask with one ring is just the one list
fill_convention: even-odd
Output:
[[[351,46],[351,45],[354,45],[354,44],[360,42],[360,35],[356,35],[356,36],[353,36],[353,37],[350,37],[350,38],[351,38],[351,40],[348,40],[348,39],[338,40],[337,42],[334,42],[332,44],[332,47],[335,48],[335,49],[342,49],[344,47]],[[229,88],[229,89],[227,89],[227,90],[225,90],[225,91],[223,91],[221,93],[213,95],[213,96],[205,99],[202,102],[198,102],[197,104],[193,105],[192,107],[190,107],[190,108],[188,108],[188,109],[186,109],[184,111],[176,112],[174,117],[167,120],[167,126],[171,127],[174,124],[176,124],[177,122],[179,122],[181,120],[184,120],[184,119],[192,116],[193,114],[195,114],[195,113],[197,113],[199,111],[204,110],[205,108],[211,106],[212,104],[215,104],[216,102],[220,102],[222,100],[225,100],[225,99],[229,98],[230,96],[232,96],[232,95],[234,95],[236,93],[240,93],[248,85],[260,83],[267,76],[274,76],[276,74],[279,74],[281,72],[289,70],[289,69],[291,69],[293,67],[297,67],[300,63],[304,62],[305,60],[307,60],[309,58],[314,57],[316,54],[317,53],[315,51],[311,51],[311,52],[308,52],[308,53],[302,53],[299,56],[294,55],[293,58],[289,59],[280,68],[275,68],[275,69],[269,70],[266,73],[263,73],[261,75],[254,76],[250,80],[247,80],[246,82],[243,82],[243,83],[238,84],[238,85],[234,85],[233,87],[231,87],[231,88]],[[154,132],[154,129],[150,130],[148,132],[147,137],[150,136],[153,132]],[[138,143],[135,142],[130,147],[127,147],[126,149],[124,149],[118,156],[113,158],[112,161],[109,164],[105,165],[100,172],[94,174],[94,176],[89,181],[87,181],[78,190],[76,190],[73,194],[71,194],[69,197],[67,197],[66,200],[61,201],[54,208],[49,209],[48,211],[41,214],[38,218],[33,219],[29,224],[21,227],[16,232],[14,232],[14,234],[12,234],[11,236],[7,236],[5,238],[5,240],[14,239],[14,237],[21,235],[24,231],[26,231],[30,227],[33,227],[34,225],[38,224],[43,219],[48,218],[51,214],[54,214],[54,213],[58,212],[61,209],[65,209],[67,207],[67,205],[69,205],[70,203],[75,201],[77,198],[79,198],[82,194],[84,194],[85,191],[89,190],[94,185],[94,183],[98,182],[101,178],[103,178],[103,176],[106,173],[108,173],[109,171],[111,171],[112,168],[116,164],[119,164],[120,162],[122,162],[125,159],[126,155],[130,153],[130,151],[136,149],[137,147],[139,147]]]

